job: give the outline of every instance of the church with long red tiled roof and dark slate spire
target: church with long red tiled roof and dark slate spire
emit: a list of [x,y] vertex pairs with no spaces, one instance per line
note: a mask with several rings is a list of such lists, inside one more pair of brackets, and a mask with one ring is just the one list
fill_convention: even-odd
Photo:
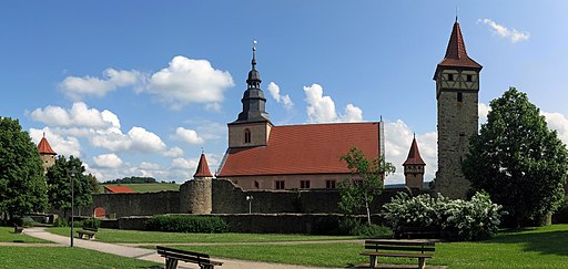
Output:
[[358,147],[367,158],[384,155],[383,122],[275,126],[265,110],[253,48],[252,70],[229,123],[229,148],[216,173],[243,189],[334,189],[349,177],[339,155]]

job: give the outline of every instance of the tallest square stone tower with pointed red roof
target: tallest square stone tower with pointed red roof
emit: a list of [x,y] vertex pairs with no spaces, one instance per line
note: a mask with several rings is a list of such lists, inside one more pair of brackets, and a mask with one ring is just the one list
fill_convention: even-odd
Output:
[[462,161],[468,152],[469,137],[477,134],[481,68],[467,55],[456,18],[446,55],[434,73],[438,106],[438,172],[435,189],[450,198],[464,198],[469,189],[469,182],[462,172]]

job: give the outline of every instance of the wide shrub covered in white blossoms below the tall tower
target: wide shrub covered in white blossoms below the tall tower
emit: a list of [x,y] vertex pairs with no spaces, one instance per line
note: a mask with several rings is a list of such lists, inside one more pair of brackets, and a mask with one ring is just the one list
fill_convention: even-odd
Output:
[[476,193],[471,200],[448,199],[438,194],[409,197],[399,193],[383,206],[382,216],[395,232],[405,227],[425,227],[448,231],[460,240],[479,240],[497,232],[501,206],[493,204],[489,195]]

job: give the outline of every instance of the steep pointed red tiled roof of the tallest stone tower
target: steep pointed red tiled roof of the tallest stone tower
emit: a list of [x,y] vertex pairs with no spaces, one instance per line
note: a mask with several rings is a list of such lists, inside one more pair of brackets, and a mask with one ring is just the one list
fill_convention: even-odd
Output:
[[[459,22],[454,23],[452,35],[449,37],[448,48],[446,49],[446,55],[444,60],[438,63],[436,73],[440,66],[455,66],[455,68],[473,68],[481,69],[483,66],[467,55],[466,43],[459,29]],[[436,79],[436,77],[434,77]]]

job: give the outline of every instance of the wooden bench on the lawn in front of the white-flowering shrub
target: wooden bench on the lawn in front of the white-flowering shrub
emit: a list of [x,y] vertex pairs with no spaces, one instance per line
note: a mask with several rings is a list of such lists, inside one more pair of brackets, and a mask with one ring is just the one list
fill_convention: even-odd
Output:
[[426,259],[434,257],[435,240],[383,239],[365,240],[365,249],[361,255],[369,257],[369,267],[376,267],[377,257],[418,258],[418,268],[424,269]]

